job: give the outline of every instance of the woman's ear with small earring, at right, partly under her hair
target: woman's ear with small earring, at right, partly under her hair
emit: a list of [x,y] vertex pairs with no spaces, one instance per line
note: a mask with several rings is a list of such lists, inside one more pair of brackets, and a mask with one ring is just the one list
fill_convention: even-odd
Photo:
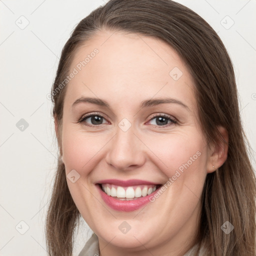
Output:
[[221,134],[221,138],[218,139],[216,144],[209,148],[207,173],[215,171],[225,162],[227,158],[228,132],[222,126],[218,126],[218,131]]

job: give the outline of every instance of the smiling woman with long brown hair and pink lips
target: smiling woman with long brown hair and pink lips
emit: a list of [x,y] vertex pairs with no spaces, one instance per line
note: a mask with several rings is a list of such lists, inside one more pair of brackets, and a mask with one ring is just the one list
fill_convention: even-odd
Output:
[[50,255],[255,255],[255,176],[232,63],[170,0],[110,0],[66,42],[52,86]]

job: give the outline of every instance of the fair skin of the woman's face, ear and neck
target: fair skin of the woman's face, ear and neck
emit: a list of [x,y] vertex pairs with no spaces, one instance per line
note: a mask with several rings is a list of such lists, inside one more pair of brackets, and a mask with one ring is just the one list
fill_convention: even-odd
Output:
[[[198,123],[193,79],[168,44],[101,30],[76,51],[70,70],[94,48],[99,52],[66,87],[61,127],[55,119],[66,174],[75,169],[80,175],[74,183],[67,178],[72,198],[98,236],[100,255],[183,255],[195,242],[206,174],[223,164],[227,146],[207,145]],[[183,73],[176,81],[169,75],[173,67]],[[88,102],[72,107],[81,96],[103,99],[110,108]],[[145,99],[167,96],[187,108],[177,103],[139,106]],[[77,122],[92,112],[104,117],[102,124],[86,126],[93,125],[91,118]],[[174,118],[176,124],[157,124],[157,114]],[[131,123],[127,131],[118,126],[123,118]],[[225,129],[219,130],[228,141]],[[113,210],[95,187],[98,180],[108,178],[164,184],[197,151],[200,156],[144,208]],[[118,228],[124,220],[131,227],[125,234]]]

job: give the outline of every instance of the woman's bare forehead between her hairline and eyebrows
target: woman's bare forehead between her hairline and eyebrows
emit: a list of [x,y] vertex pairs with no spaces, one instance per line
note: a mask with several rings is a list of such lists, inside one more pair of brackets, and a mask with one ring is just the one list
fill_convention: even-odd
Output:
[[[103,30],[73,57],[66,101],[97,96],[129,103],[154,95],[175,96],[193,105],[193,81],[182,59],[166,42],[140,34]],[[190,101],[190,102],[188,102]]]

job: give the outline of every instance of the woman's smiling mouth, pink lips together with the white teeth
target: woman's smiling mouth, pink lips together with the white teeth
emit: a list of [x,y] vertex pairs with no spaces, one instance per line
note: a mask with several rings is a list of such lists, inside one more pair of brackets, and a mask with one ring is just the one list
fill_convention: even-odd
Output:
[[133,211],[150,202],[162,184],[145,180],[107,179],[95,183],[105,204],[117,211]]

